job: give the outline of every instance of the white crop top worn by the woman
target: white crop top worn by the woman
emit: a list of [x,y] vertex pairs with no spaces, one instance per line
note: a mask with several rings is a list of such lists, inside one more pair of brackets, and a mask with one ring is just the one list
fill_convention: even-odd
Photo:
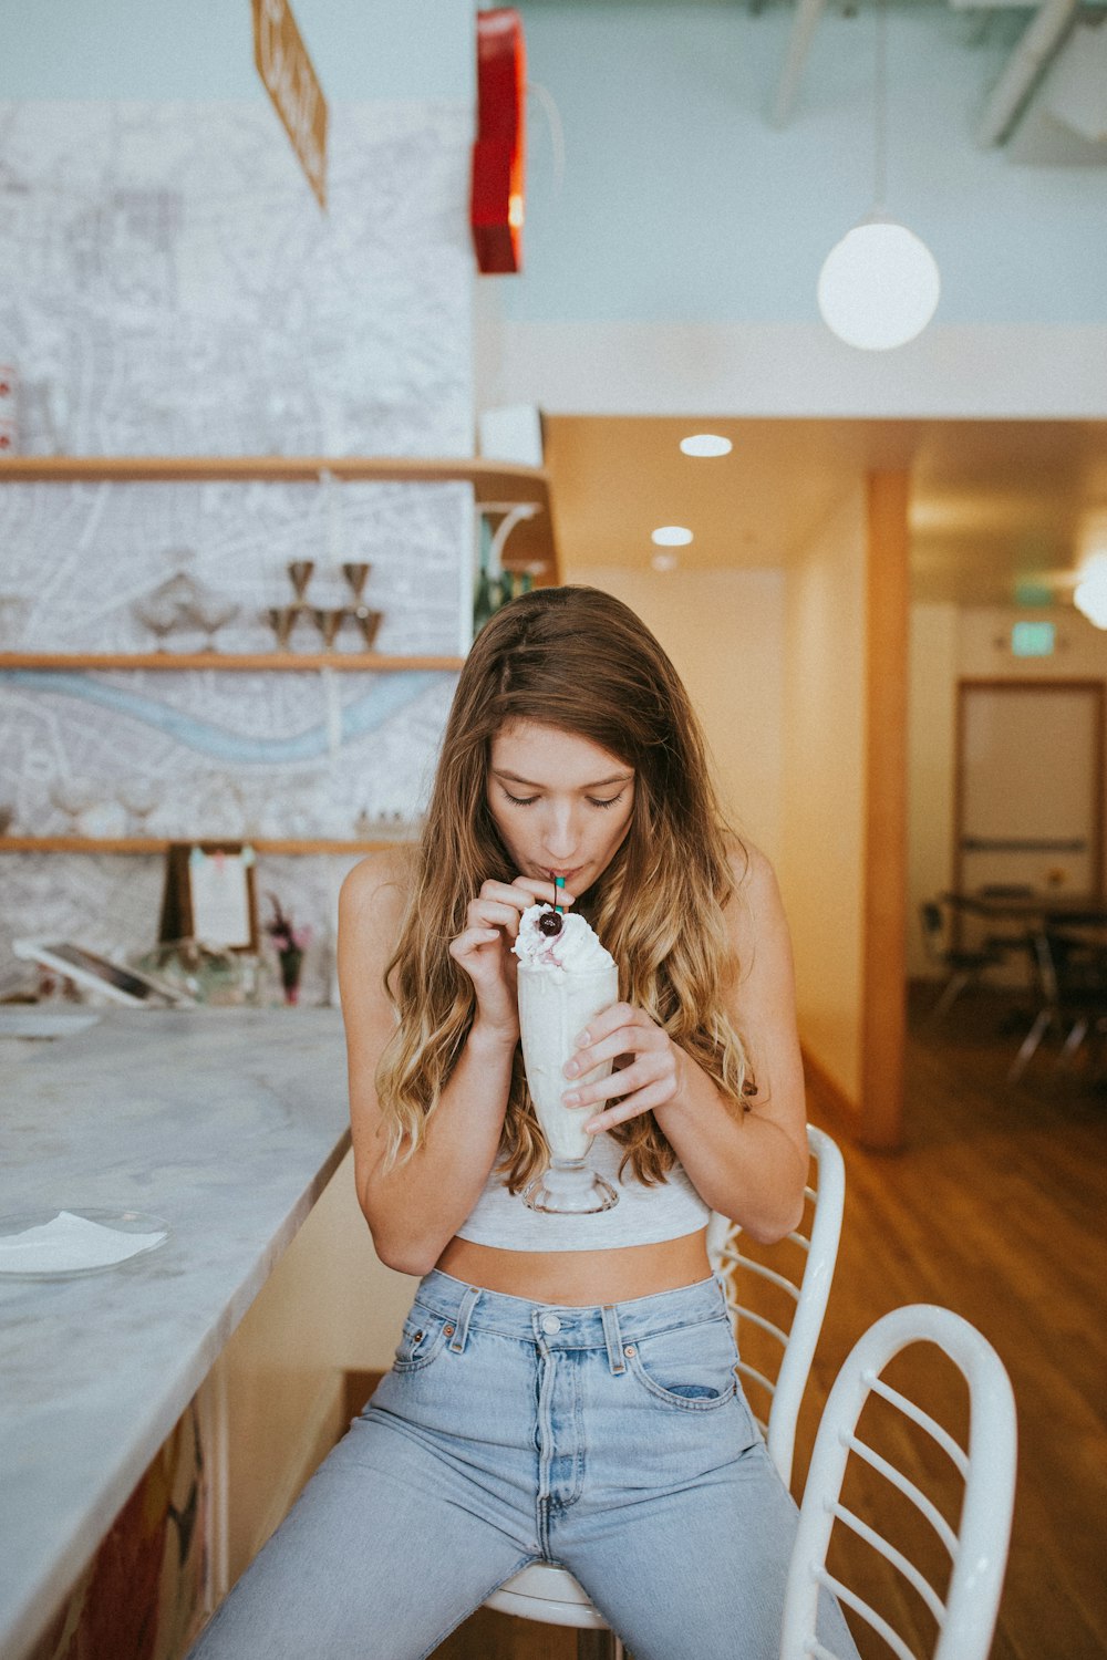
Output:
[[614,1250],[619,1245],[657,1245],[707,1227],[710,1210],[679,1164],[664,1182],[646,1187],[631,1165],[619,1177],[624,1152],[607,1134],[593,1142],[588,1162],[611,1182],[619,1204],[591,1217],[549,1217],[529,1210],[493,1169],[485,1192],[458,1228],[458,1238],[500,1250]]

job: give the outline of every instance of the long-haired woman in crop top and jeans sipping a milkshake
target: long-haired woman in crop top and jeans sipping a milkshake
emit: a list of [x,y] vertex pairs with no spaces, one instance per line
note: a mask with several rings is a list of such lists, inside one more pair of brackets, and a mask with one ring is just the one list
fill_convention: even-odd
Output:
[[[566,1066],[619,1192],[597,1215],[524,1200],[546,1149],[511,948],[554,900],[621,976]],[[626,606],[541,589],[485,626],[418,850],[345,881],[339,969],[358,1200],[382,1260],[423,1278],[393,1370],[198,1655],[417,1660],[546,1559],[636,1660],[773,1660],[795,1507],[705,1227],[775,1240],[803,1210],[790,946]],[[827,1640],[855,1653],[831,1604]]]

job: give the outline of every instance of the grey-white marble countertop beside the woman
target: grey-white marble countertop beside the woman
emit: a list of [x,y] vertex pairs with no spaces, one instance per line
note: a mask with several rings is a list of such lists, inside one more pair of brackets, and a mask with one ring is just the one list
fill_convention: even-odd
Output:
[[0,1277],[0,1653],[20,1660],[349,1147],[337,1009],[111,1011],[0,1072],[0,1215],[171,1227],[71,1280]]

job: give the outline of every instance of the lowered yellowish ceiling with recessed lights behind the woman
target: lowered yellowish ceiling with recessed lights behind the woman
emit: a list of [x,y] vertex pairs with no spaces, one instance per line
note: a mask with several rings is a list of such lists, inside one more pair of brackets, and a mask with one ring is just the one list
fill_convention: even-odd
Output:
[[[689,458],[690,432],[734,450]],[[1031,584],[1067,603],[1092,525],[1107,525],[1107,422],[558,415],[544,443],[563,569],[647,568],[659,525],[694,533],[682,569],[787,564],[878,468],[911,473],[919,599],[1012,604]]]

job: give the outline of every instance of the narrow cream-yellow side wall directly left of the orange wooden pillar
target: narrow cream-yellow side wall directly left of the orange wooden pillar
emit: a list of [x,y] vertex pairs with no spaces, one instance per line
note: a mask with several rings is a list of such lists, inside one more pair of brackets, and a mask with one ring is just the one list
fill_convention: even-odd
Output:
[[780,885],[800,1036],[860,1099],[865,858],[865,481],[787,573]]

